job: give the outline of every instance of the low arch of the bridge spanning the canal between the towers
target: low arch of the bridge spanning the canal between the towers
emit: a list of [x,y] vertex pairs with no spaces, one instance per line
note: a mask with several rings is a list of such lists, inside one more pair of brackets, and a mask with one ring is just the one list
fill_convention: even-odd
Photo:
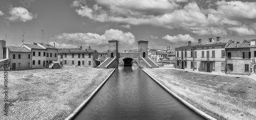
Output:
[[133,56],[123,56],[119,58],[119,64],[123,66],[138,66],[138,58],[135,58]]

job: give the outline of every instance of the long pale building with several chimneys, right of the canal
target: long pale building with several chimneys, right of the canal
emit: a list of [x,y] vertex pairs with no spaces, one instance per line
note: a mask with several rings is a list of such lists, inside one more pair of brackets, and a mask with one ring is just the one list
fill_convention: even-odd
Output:
[[175,48],[176,68],[186,70],[198,70],[202,72],[225,72],[225,47],[232,40],[217,40],[209,38],[207,42],[191,43]]

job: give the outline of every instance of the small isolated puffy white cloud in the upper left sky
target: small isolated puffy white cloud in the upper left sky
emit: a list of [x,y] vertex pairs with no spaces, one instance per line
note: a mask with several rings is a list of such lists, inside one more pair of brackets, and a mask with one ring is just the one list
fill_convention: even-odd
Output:
[[37,14],[30,13],[26,8],[23,7],[14,7],[10,8],[8,20],[14,21],[23,21],[26,22],[28,20],[32,20],[37,17]]

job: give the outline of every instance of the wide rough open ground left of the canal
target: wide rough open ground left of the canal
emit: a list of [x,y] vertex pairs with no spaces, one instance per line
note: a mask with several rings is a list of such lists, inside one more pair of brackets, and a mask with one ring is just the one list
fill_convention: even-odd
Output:
[[[5,117],[1,112],[0,119],[64,119],[112,70],[62,67],[8,71],[9,113]],[[4,79],[1,79],[0,89],[3,88]],[[0,107],[4,108],[3,92],[0,100]]]

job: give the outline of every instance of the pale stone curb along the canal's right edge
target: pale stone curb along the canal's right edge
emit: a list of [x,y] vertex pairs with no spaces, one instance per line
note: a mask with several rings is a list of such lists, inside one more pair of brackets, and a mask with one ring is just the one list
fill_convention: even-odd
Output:
[[174,92],[170,91],[170,89],[168,89],[166,86],[164,86],[162,83],[160,83],[157,79],[155,79],[153,76],[151,76],[150,74],[148,74],[144,68],[142,69],[148,76],[150,76],[153,80],[155,80],[160,86],[162,86],[170,95],[174,96],[177,100],[179,100],[180,102],[182,102],[184,105],[186,105],[188,108],[190,108],[191,110],[193,110],[194,112],[196,112],[197,114],[199,114],[200,116],[206,118],[206,119],[210,119],[210,120],[217,120],[216,118],[206,114],[205,112],[199,110],[198,108],[196,108],[195,106],[191,105],[190,103],[188,103],[187,101],[185,101],[184,99],[182,99],[181,97],[179,97],[178,95],[176,95]]

